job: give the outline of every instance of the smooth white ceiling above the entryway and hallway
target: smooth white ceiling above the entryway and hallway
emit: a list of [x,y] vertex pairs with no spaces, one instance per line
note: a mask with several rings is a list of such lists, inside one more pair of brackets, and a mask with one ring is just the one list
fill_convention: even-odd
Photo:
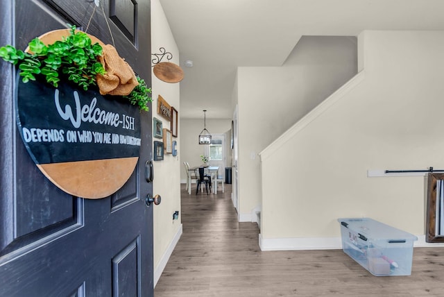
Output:
[[[239,66],[280,66],[302,35],[444,30],[443,0],[160,0],[180,51],[180,117],[232,118]],[[193,67],[185,67],[192,60]],[[261,86],[258,86],[261,87]],[[264,86],[264,92],[267,92]]]

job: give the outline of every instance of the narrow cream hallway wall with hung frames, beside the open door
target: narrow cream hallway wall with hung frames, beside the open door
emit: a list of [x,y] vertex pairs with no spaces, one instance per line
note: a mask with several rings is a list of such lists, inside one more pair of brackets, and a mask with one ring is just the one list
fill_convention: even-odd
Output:
[[[178,46],[159,0],[151,1],[151,42],[152,53],[160,53],[160,47],[164,47],[173,54],[170,62],[180,65]],[[157,114],[157,97],[160,94],[180,114],[179,87],[180,83],[165,83],[152,74],[153,117],[162,120],[163,128],[170,128],[170,122]],[[173,137],[173,140],[178,143],[177,149],[180,151],[180,119],[178,130],[178,137]],[[162,141],[157,138],[153,140]],[[154,206],[154,283],[160,278],[182,234],[180,215],[178,220],[173,220],[173,212],[178,210],[180,214],[180,169],[179,155],[173,157],[171,154],[164,154],[163,161],[154,161],[153,195],[162,196],[162,203]]]

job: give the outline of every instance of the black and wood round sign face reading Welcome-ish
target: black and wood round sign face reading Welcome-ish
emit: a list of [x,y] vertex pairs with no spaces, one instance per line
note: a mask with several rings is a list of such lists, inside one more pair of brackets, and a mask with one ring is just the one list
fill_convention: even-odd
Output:
[[139,157],[140,112],[119,96],[17,79],[17,126],[37,167],[65,192],[103,198],[130,178]]

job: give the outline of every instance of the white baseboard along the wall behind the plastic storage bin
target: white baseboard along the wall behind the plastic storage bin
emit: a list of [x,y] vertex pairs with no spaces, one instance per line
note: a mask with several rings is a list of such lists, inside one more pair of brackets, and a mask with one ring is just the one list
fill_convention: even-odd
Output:
[[[417,235],[418,241],[413,246],[440,247],[444,244],[429,244],[425,235]],[[298,251],[298,250],[334,250],[342,248],[341,237],[298,237],[298,238],[262,238],[259,234],[261,251]]]

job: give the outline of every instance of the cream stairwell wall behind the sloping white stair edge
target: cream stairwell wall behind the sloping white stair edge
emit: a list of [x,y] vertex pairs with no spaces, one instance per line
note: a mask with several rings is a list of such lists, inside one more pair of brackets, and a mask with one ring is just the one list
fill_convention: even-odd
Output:
[[[284,67],[238,68],[237,98],[236,94],[233,98],[239,106],[241,218],[252,217],[261,203],[257,153],[356,72],[353,37],[302,37]],[[273,174],[280,176],[280,171]],[[273,196],[268,198],[273,200]]]

